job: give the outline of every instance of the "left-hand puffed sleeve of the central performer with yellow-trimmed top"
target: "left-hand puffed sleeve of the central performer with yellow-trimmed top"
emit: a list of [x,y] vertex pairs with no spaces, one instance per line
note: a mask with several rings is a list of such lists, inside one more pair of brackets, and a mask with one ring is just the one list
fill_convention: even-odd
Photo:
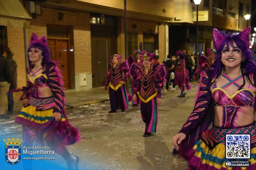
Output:
[[140,68],[136,64],[131,65],[130,74],[132,76],[132,82],[134,84],[133,94],[136,94],[138,91],[140,91]]

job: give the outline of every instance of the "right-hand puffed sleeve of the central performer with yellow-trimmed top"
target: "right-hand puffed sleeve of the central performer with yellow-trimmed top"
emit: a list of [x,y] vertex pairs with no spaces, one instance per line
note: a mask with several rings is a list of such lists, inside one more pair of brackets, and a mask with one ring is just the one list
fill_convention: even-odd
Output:
[[157,98],[161,98],[161,87],[163,86],[166,77],[167,77],[168,71],[166,67],[161,64],[156,68],[156,71],[154,73],[154,86],[157,90]]

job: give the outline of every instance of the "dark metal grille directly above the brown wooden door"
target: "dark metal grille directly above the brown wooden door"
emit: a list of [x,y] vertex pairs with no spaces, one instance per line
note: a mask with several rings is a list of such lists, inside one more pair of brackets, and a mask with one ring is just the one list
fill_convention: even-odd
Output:
[[47,26],[48,37],[68,38],[68,33],[68,28]]

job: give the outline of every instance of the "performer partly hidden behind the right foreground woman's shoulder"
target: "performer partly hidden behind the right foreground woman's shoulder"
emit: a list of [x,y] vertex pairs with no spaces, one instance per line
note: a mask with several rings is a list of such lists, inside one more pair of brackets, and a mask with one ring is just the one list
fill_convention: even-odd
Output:
[[214,61],[215,61],[215,56],[216,56],[216,50],[214,48],[210,49],[207,48],[207,56],[201,55],[198,60],[198,65],[199,67],[196,69],[194,75],[201,74],[202,71],[212,68]]

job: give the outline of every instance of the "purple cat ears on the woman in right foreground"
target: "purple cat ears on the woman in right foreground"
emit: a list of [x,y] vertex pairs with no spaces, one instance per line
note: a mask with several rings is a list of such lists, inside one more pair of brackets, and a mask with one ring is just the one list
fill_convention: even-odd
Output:
[[249,48],[250,44],[250,27],[247,27],[245,30],[241,31],[239,34],[236,35],[227,35],[223,31],[218,31],[218,29],[213,29],[213,40],[215,47],[217,50],[220,48],[223,41],[227,38],[232,37],[239,37],[239,39],[244,42],[247,48]]

